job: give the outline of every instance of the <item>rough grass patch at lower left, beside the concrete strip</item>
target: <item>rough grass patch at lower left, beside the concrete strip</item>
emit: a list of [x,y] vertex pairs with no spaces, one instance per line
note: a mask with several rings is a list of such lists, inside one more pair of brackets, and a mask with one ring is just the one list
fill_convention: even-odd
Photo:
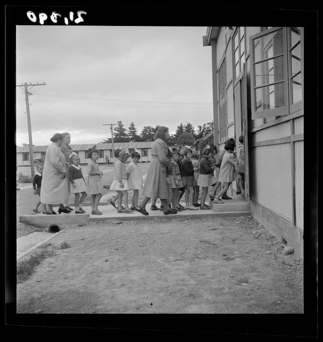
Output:
[[35,271],[43,259],[49,256],[54,256],[55,252],[48,250],[47,247],[51,244],[46,244],[39,251],[29,256],[26,260],[22,260],[17,264],[17,283],[22,283],[27,280]]

